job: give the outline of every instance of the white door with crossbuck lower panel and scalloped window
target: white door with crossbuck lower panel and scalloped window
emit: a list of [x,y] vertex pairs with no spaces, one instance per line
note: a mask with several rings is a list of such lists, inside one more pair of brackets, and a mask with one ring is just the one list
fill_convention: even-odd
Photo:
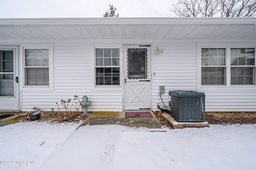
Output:
[[125,46],[124,110],[151,110],[150,46]]

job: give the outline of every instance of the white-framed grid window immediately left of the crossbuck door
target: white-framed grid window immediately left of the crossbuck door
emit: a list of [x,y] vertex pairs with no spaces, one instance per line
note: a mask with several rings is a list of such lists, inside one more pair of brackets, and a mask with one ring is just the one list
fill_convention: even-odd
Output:
[[95,85],[120,85],[120,49],[95,49]]

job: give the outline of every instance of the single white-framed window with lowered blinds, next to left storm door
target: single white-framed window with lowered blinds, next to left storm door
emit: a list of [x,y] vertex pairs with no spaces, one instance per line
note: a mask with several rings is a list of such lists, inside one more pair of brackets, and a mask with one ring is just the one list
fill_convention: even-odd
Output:
[[24,90],[53,90],[53,45],[22,45]]

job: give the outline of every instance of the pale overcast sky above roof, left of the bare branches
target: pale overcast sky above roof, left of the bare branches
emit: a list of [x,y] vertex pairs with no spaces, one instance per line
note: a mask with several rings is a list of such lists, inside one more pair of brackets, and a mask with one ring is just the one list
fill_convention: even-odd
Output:
[[173,17],[176,0],[0,0],[0,18],[103,17],[108,4],[119,17]]

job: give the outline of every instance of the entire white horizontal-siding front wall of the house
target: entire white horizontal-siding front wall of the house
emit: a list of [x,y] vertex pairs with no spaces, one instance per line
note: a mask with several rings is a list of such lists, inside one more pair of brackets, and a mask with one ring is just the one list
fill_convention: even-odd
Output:
[[[165,86],[162,99],[168,105],[170,90],[198,90],[197,43],[201,42],[256,42],[256,40],[51,40],[51,41],[0,41],[2,45],[53,44],[54,88],[51,91],[24,91],[20,84],[22,111],[31,111],[33,106],[45,111],[57,110],[60,100],[81,99],[87,95],[92,104],[89,111],[122,111],[123,90],[91,91],[91,44],[152,44],[152,51],[159,47],[164,52],[155,55],[152,51],[152,110],[158,110],[161,102],[159,86]],[[19,56],[19,63],[22,62]],[[121,56],[124,57],[124,56]],[[20,64],[21,65],[21,64]],[[22,67],[20,67],[22,69]],[[123,81],[123,71],[121,81]],[[22,75],[19,75],[22,77]],[[122,83],[121,83],[122,84]],[[199,90],[200,91],[200,90]],[[201,91],[206,95],[206,111],[256,111],[256,89]],[[162,103],[162,102],[161,102]],[[162,104],[163,105],[163,104]]]

